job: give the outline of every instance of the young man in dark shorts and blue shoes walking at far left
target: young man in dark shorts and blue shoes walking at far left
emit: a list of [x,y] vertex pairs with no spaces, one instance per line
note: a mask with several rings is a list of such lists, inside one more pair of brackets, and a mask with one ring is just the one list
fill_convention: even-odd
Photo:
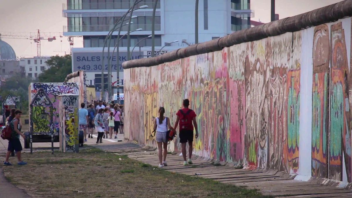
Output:
[[10,123],[11,136],[8,139],[8,147],[7,147],[7,153],[6,153],[6,159],[4,162],[4,166],[12,166],[12,164],[8,161],[12,150],[16,151],[18,165],[26,165],[27,164],[27,162],[24,162],[21,160],[22,145],[21,145],[20,139],[18,138],[18,135],[20,135],[24,139],[26,139],[26,136],[20,131],[19,122],[20,122],[21,115],[22,115],[22,112],[20,110],[16,110],[15,117],[12,119],[12,121]]

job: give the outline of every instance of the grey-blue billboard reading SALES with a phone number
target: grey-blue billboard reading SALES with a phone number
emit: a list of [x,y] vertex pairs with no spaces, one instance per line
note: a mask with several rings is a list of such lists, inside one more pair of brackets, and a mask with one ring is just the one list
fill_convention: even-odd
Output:
[[[140,58],[139,52],[132,52],[131,60]],[[112,51],[110,51],[110,56],[108,52],[104,50],[104,57],[102,57],[102,51],[96,52],[72,52],[72,72],[78,70],[84,70],[86,72],[104,72],[108,71],[108,59],[110,59],[110,67],[112,72],[117,72],[117,57],[116,52],[112,56]],[[103,60],[103,64],[102,64]],[[127,61],[127,52],[119,52],[119,72],[123,72],[122,63]],[[102,66],[103,65],[103,66]]]

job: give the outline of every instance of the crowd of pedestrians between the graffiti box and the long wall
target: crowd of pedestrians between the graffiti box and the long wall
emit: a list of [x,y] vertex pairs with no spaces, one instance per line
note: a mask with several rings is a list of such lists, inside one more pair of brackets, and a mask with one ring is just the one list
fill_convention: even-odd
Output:
[[[79,128],[84,132],[84,142],[88,138],[93,138],[94,130],[98,133],[96,143],[102,143],[103,139],[117,139],[117,134],[124,133],[124,106],[115,104],[111,101],[110,104],[102,101],[92,101],[88,104],[88,109],[85,109],[86,104],[81,104],[79,110]],[[88,130],[88,131],[87,131]]]

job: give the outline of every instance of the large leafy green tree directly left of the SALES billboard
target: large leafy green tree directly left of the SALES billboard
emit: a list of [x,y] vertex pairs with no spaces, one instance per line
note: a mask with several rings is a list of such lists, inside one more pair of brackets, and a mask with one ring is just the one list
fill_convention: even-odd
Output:
[[52,56],[46,64],[49,69],[39,74],[39,82],[64,82],[68,74],[72,73],[71,55]]

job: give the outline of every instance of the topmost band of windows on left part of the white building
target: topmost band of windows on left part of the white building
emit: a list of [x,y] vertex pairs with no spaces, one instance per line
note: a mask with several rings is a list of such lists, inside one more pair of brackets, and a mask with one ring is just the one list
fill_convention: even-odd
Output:
[[[130,9],[134,0],[67,0],[67,10]],[[153,8],[153,0],[142,0],[135,7]],[[160,8],[160,1],[157,7]]]

